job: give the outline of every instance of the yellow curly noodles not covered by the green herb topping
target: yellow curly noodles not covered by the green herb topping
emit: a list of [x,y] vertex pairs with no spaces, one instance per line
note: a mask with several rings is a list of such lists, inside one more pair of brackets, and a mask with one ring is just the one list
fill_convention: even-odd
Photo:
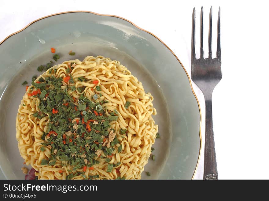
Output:
[[[75,63],[73,69],[70,68],[70,63]],[[119,61],[112,61],[103,56],[87,56],[83,61],[78,59],[65,61],[48,69],[36,81],[39,78],[45,80],[50,76],[64,79],[68,76],[68,69],[74,80],[72,85],[76,87],[76,91],[68,91],[70,96],[79,99],[80,95],[84,95],[92,99],[96,94],[99,102],[107,101],[101,105],[105,108],[104,114],[109,116],[115,113],[118,116],[116,121],[110,122],[111,129],[115,131],[115,138],[118,140],[118,143],[112,146],[114,151],[111,160],[106,162],[102,152],[100,157],[94,158],[97,163],[90,169],[87,168],[85,172],[83,168],[73,169],[74,166],[59,158],[56,158],[53,165],[41,165],[43,159],[51,156],[50,146],[42,148],[44,147],[42,143],[46,142],[42,139],[42,135],[48,131],[51,119],[48,115],[41,119],[33,115],[36,112],[40,113],[40,100],[29,95],[33,91],[31,85],[21,100],[16,118],[16,138],[20,155],[25,163],[31,164],[38,171],[35,173],[38,179],[66,179],[70,174],[75,175],[72,179],[116,179],[118,177],[141,179],[141,173],[148,162],[158,132],[158,125],[155,125],[151,116],[156,115],[152,103],[153,96],[145,93],[142,83]],[[83,79],[79,79],[81,77]],[[98,83],[93,84],[93,81]],[[98,86],[100,91],[96,88]],[[83,91],[79,91],[79,87]],[[61,88],[64,90],[67,86],[63,85]],[[121,130],[127,131],[122,134]],[[122,147],[122,151],[118,151],[119,146]],[[45,150],[41,151],[41,149]],[[114,164],[111,172],[107,172],[109,164]],[[84,173],[79,174],[81,172]]]

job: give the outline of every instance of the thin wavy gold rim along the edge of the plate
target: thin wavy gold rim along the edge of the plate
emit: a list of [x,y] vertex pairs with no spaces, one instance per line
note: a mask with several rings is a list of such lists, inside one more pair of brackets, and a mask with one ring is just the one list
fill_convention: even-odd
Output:
[[194,90],[193,90],[193,87],[192,87],[192,84],[191,84],[191,80],[190,80],[190,76],[189,76],[189,74],[187,73],[185,67],[183,66],[183,64],[181,63],[181,61],[179,60],[179,58],[175,55],[175,53],[174,53],[174,52],[173,52],[173,51],[172,51],[172,50],[171,50],[171,49],[170,49],[170,48],[169,48],[169,47],[168,47],[168,46],[167,46],[161,39],[159,39],[156,35],[154,35],[153,33],[149,32],[149,31],[147,31],[147,30],[145,30],[145,29],[143,29],[143,28],[138,27],[136,24],[134,24],[134,23],[131,22],[130,20],[127,20],[127,19],[125,19],[125,18],[123,18],[123,17],[119,17],[119,16],[117,16],[117,15],[105,15],[105,14],[100,14],[100,13],[94,13],[94,12],[87,11],[87,10],[77,10],[77,11],[65,11],[65,12],[61,12],[61,13],[54,13],[54,14],[51,14],[51,15],[47,15],[47,16],[45,16],[45,17],[40,17],[40,18],[38,18],[38,19],[36,19],[36,20],[30,22],[29,24],[27,24],[24,28],[20,29],[19,31],[14,32],[14,33],[10,34],[9,36],[7,36],[4,40],[1,41],[0,45],[1,45],[6,39],[8,39],[9,37],[11,37],[11,36],[13,36],[13,35],[15,35],[15,34],[17,34],[17,33],[19,33],[19,32],[22,32],[22,31],[23,31],[24,29],[26,29],[28,26],[30,26],[31,24],[33,24],[33,23],[35,23],[35,22],[37,22],[37,21],[39,21],[39,20],[45,19],[45,18],[47,18],[47,17],[55,16],[55,15],[65,14],[65,13],[92,13],[92,14],[95,14],[95,15],[107,16],[107,17],[117,17],[117,18],[126,20],[127,22],[129,22],[129,23],[131,23],[133,26],[135,26],[136,28],[138,28],[138,29],[140,29],[140,30],[142,30],[142,31],[144,31],[144,32],[147,32],[147,33],[149,33],[150,35],[152,35],[153,37],[155,37],[156,39],[158,39],[161,43],[164,44],[165,47],[168,48],[168,50],[171,51],[171,53],[172,53],[172,54],[175,56],[175,58],[179,61],[179,63],[181,64],[182,68],[184,69],[186,75],[188,76],[188,79],[189,79],[189,82],[190,82],[190,87],[191,87],[191,90],[192,90],[192,92],[193,92],[193,95],[195,96],[195,99],[196,99],[197,104],[198,104],[198,107],[199,107],[199,112],[200,112],[200,126],[199,126],[200,150],[199,150],[199,156],[198,156],[198,160],[197,160],[196,168],[195,168],[195,170],[194,170],[194,172],[193,172],[193,176],[192,176],[192,178],[191,178],[191,179],[193,179],[194,176],[195,176],[195,173],[196,173],[196,171],[197,171],[197,168],[198,168],[198,164],[199,164],[200,156],[201,156],[201,150],[202,150],[202,136],[201,136],[202,114],[201,114],[200,103],[199,103],[199,101],[198,101],[198,98],[197,98],[197,96],[196,96]]

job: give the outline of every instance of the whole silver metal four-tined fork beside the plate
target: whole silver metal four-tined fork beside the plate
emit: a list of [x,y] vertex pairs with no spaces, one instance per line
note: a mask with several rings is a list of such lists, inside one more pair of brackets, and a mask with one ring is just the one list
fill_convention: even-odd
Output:
[[201,7],[200,58],[195,56],[195,8],[192,14],[191,38],[191,79],[201,89],[205,97],[205,155],[204,179],[218,179],[215,142],[212,121],[212,92],[222,78],[220,52],[220,8],[217,25],[217,52],[212,58],[212,6],[209,12],[208,58],[204,58],[203,6]]

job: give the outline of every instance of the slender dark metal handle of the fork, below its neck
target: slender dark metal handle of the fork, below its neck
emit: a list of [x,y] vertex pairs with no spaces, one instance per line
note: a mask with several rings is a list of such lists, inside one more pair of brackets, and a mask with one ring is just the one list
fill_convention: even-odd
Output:
[[218,179],[213,121],[212,121],[212,99],[205,100],[204,179]]

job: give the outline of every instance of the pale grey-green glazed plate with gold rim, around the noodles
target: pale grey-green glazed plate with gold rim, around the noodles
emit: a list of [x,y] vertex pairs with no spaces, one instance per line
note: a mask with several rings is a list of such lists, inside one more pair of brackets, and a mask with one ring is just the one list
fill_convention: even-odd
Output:
[[[35,20],[0,43],[0,166],[7,179],[24,179],[15,119],[37,66],[52,60],[103,55],[125,65],[154,97],[160,138],[142,179],[192,179],[201,151],[201,112],[190,77],[175,54],[155,35],[117,16],[88,11],[57,13]],[[70,56],[68,52],[76,52]],[[147,176],[149,172],[151,176]]]

